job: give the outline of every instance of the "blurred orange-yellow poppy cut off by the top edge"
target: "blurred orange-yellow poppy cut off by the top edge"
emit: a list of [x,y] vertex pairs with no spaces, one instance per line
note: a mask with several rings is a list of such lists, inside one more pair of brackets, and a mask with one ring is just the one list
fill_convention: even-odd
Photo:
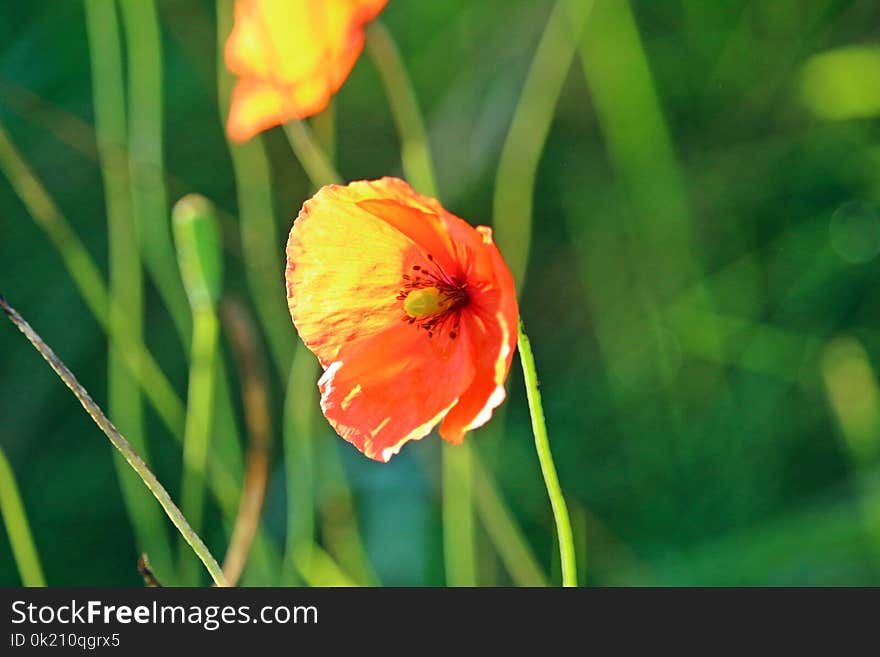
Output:
[[239,76],[226,131],[244,142],[327,106],[388,0],[236,0],[226,67]]

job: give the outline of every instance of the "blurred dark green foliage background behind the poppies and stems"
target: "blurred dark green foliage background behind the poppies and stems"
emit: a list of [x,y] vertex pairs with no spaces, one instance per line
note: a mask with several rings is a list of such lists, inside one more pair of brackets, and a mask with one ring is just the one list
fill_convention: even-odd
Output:
[[[501,149],[552,8],[391,0],[383,13],[425,112],[440,199],[474,224],[492,222]],[[224,294],[253,305],[216,95],[215,7],[159,0],[158,14],[169,203],[196,192],[217,205]],[[537,169],[522,314],[582,583],[880,584],[880,6],[595,0],[578,43]],[[83,6],[3,3],[0,44],[0,123],[106,276]],[[346,179],[401,175],[366,56],[335,123]],[[264,143],[283,244],[310,185],[282,130]],[[2,177],[0,235],[0,292],[104,405],[106,335]],[[186,399],[188,345],[152,285],[145,340]],[[46,580],[137,585],[110,447],[12,326],[0,345],[0,446]],[[287,375],[270,377],[276,431]],[[556,581],[516,367],[509,393],[504,415],[469,440]],[[180,447],[152,408],[145,418],[154,469],[177,496]],[[321,470],[338,452],[378,580],[442,584],[439,439],[381,465],[320,418],[314,426],[325,518],[342,508]],[[264,528],[279,545],[284,475],[276,449]],[[222,554],[228,527],[215,506],[206,523]],[[322,544],[332,547],[334,527],[325,520]],[[477,539],[478,580],[508,583],[480,526]],[[0,532],[3,585],[19,583],[11,555]]]

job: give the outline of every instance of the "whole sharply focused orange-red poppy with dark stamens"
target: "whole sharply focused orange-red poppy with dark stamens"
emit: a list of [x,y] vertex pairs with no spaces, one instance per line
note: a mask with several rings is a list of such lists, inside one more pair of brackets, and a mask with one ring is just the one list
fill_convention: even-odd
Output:
[[328,185],[287,242],[293,323],[321,365],[321,409],[377,461],[440,424],[461,443],[504,399],[519,311],[492,231],[404,181]]

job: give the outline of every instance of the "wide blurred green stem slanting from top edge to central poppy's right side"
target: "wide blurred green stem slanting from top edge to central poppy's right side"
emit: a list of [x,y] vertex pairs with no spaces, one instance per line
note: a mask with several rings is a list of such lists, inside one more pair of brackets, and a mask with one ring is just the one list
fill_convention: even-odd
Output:
[[538,162],[592,5],[592,0],[556,1],[501,150],[492,228],[517,290],[522,288],[529,260]]

